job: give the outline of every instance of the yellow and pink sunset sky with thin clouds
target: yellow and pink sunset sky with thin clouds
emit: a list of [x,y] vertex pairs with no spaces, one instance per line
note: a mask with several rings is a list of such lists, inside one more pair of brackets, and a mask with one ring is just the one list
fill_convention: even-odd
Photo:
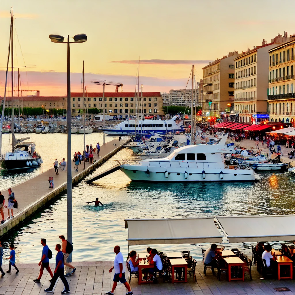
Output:
[[[71,45],[72,92],[82,91],[83,60],[87,91],[102,91],[91,83],[95,79],[123,83],[123,91],[135,91],[139,57],[143,91],[168,92],[186,87],[192,64],[199,81],[201,68],[210,61],[261,45],[263,38],[271,42],[284,31],[293,34],[293,12],[286,9],[293,4],[291,0],[1,0],[0,96],[11,6],[14,66],[21,67],[22,89],[59,96],[66,94],[66,45],[50,42],[50,34],[88,37],[85,43]],[[284,13],[275,13],[278,6]],[[10,90],[10,73],[8,78]],[[115,86],[106,86],[106,91],[114,90]]]

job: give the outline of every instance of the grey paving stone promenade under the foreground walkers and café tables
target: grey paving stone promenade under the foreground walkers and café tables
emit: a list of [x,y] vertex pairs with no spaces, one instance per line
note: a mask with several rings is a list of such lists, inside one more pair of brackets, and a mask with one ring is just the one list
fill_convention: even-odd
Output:
[[[68,277],[71,293],[75,295],[103,295],[110,291],[114,273],[109,273],[112,261],[78,262],[73,263],[77,270],[73,276]],[[44,289],[48,288],[50,276],[44,270],[41,283],[33,280],[39,273],[37,264],[18,264],[19,273],[15,269],[5,276],[0,277],[0,295],[45,295]],[[50,264],[54,269],[54,264]],[[5,268],[5,266],[4,266]],[[227,282],[222,274],[221,281],[212,275],[210,269],[207,276],[203,273],[204,266],[198,261],[196,266],[196,279],[188,276],[188,283],[163,283],[159,279],[158,284],[138,285],[137,278],[131,279],[131,287],[134,295],[292,295],[295,294],[295,281],[293,280],[261,280],[256,267],[252,267],[253,280],[246,274],[245,281]],[[6,270],[6,268],[5,268]],[[126,278],[128,273],[125,274]],[[291,292],[276,292],[276,287],[288,287]],[[55,294],[63,290],[63,283],[58,280],[54,289]],[[115,295],[125,295],[127,290],[124,285],[118,283]]]

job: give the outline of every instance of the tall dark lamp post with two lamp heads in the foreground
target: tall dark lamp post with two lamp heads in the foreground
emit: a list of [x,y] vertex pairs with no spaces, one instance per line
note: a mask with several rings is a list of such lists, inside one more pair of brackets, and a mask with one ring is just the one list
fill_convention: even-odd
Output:
[[[60,35],[49,35],[51,42],[67,44],[67,126],[68,126],[68,146],[67,146],[67,240],[73,243],[73,216],[72,216],[72,161],[71,161],[71,68],[70,68],[70,44],[83,43],[87,41],[86,34],[78,34],[73,37],[74,42],[70,42],[68,35],[67,42]],[[72,261],[72,254],[69,255],[69,262]]]

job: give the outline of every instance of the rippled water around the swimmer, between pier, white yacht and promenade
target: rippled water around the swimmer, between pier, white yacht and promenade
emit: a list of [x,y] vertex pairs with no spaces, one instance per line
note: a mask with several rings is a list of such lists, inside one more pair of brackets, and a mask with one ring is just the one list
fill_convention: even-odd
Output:
[[[49,138],[51,135],[44,135],[44,140],[45,136]],[[106,136],[106,139],[109,137]],[[81,140],[83,142],[83,136]],[[124,148],[93,173],[111,167],[116,158],[131,157],[131,150]],[[293,183],[294,178],[289,174],[270,175],[258,183],[132,183],[121,171],[91,185],[80,182],[73,188],[73,261],[113,260],[114,245],[120,245],[126,256],[125,218],[295,214]],[[104,204],[103,207],[85,203],[96,197]],[[54,249],[54,245],[60,242],[58,235],[61,234],[66,234],[66,195],[37,213],[11,237],[6,237],[4,252],[7,252],[7,244],[14,242],[19,262],[37,262],[42,250],[40,239],[46,238],[50,248]],[[240,248],[248,255],[251,253],[250,246],[250,243],[226,244],[227,248]],[[194,258],[201,260],[201,245],[153,247],[164,252],[190,250]],[[132,246],[130,250],[145,248],[144,245]]]

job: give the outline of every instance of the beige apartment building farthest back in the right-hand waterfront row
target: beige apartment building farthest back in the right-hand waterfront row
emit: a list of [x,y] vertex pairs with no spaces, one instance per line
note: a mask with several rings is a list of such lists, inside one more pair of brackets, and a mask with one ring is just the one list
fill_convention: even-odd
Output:
[[235,64],[234,59],[240,54],[233,51],[217,59],[203,69],[204,117],[223,118],[234,104]]

